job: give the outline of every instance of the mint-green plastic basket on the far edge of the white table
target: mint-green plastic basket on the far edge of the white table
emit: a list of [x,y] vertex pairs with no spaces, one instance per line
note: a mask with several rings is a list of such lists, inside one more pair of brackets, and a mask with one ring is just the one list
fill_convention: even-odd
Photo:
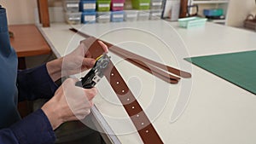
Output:
[[189,17],[178,19],[178,25],[183,28],[202,27],[206,25],[206,18]]

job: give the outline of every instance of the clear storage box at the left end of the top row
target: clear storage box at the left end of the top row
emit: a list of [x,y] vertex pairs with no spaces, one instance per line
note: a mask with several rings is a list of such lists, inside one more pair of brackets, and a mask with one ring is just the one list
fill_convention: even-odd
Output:
[[64,0],[63,8],[66,12],[79,12],[79,0]]

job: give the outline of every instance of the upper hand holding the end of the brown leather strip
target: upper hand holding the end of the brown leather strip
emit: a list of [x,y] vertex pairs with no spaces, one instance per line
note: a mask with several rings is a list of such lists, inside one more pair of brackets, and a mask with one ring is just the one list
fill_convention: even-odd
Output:
[[[56,81],[61,77],[66,77],[79,72],[84,72],[85,70],[94,66],[95,61],[91,58],[88,49],[90,45],[96,41],[96,37],[89,37],[83,40],[83,43],[79,44],[77,49],[74,49],[68,55],[65,55],[57,60],[52,60],[47,63],[47,70],[49,76]],[[98,41],[105,52],[108,52],[108,47],[106,44]]]

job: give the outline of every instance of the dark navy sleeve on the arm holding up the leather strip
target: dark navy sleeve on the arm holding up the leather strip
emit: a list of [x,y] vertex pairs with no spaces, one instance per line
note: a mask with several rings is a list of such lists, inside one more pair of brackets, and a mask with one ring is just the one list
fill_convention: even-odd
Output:
[[17,87],[19,101],[51,98],[58,88],[49,77],[46,64],[18,71]]

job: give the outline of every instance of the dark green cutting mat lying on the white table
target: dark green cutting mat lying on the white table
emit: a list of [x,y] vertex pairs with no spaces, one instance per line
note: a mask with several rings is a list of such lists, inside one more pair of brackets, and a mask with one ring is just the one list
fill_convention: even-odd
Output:
[[256,50],[185,60],[256,95]]

